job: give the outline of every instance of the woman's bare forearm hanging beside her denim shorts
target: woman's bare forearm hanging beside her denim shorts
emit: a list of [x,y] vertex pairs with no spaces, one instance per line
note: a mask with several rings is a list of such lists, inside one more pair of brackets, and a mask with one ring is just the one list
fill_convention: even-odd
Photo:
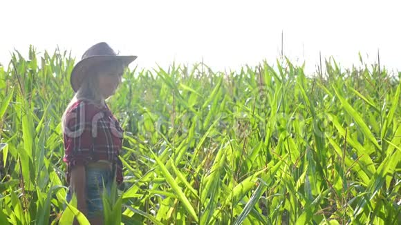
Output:
[[70,177],[71,188],[77,195],[77,208],[86,215],[86,171],[85,166],[73,166]]

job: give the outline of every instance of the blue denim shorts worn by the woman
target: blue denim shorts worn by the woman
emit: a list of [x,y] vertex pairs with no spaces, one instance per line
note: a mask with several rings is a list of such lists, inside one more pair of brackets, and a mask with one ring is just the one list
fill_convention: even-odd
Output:
[[[88,168],[86,167],[86,205],[88,206],[87,218],[103,217],[103,182],[108,196],[111,195],[111,185],[113,184],[113,175],[111,170],[106,168]],[[67,202],[71,201],[73,193],[71,187],[68,188],[66,195]]]

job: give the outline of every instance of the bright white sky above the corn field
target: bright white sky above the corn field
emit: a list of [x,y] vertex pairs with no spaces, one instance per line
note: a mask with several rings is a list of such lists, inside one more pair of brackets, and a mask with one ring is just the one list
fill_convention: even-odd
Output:
[[358,52],[401,70],[397,1],[10,1],[0,3],[0,62],[29,44],[53,52],[57,45],[80,59],[106,41],[131,66],[155,68],[202,59],[214,70],[275,63],[281,52],[315,70],[322,57],[360,65]]

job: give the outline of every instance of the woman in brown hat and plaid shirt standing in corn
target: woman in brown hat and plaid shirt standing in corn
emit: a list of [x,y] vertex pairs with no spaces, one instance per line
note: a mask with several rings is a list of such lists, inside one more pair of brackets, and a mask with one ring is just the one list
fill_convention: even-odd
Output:
[[97,43],[71,72],[75,96],[62,117],[69,185],[66,200],[75,194],[77,208],[91,224],[103,224],[103,187],[110,193],[114,181],[122,183],[118,155],[123,130],[105,99],[115,93],[124,68],[135,59],[116,55],[107,43]]

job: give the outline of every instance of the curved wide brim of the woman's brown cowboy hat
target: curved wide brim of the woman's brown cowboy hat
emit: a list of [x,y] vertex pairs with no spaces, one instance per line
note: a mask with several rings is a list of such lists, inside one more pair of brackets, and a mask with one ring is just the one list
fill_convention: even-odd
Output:
[[135,55],[95,55],[93,57],[88,57],[86,59],[82,59],[74,66],[73,71],[71,72],[70,83],[74,92],[77,92],[80,89],[80,85],[84,81],[84,76],[86,75],[86,70],[91,68],[95,63],[102,63],[106,61],[122,61],[122,64],[125,67],[129,65],[132,61],[138,58]]

